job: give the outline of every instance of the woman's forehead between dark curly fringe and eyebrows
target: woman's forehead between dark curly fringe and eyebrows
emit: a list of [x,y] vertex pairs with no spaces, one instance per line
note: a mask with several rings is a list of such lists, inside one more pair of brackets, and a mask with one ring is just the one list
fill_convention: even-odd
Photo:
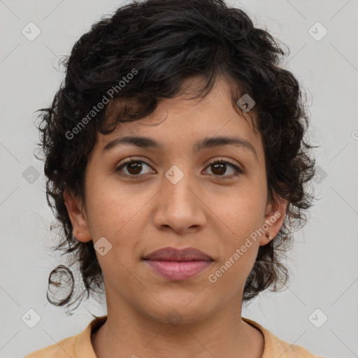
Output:
[[[200,150],[205,147],[204,142],[209,143],[207,147],[210,147],[217,137],[235,137],[241,139],[243,147],[251,145],[259,159],[263,155],[262,138],[252,126],[256,113],[243,113],[233,106],[231,96],[241,96],[238,88],[221,79],[216,81],[205,98],[187,99],[187,94],[192,93],[200,83],[201,78],[189,78],[182,84],[182,95],[159,100],[157,108],[147,117],[134,122],[118,123],[110,134],[97,133],[94,150],[106,152],[111,146],[119,144],[120,138],[129,136],[151,138],[152,142],[157,143],[152,143],[152,148],[157,147],[156,149],[166,152],[172,149]],[[115,114],[115,111],[109,113],[108,121]],[[235,144],[234,141],[232,144]]]

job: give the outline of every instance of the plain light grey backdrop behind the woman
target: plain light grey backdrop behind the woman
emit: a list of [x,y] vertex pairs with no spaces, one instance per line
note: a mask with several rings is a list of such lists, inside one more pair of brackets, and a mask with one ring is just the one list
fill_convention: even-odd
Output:
[[[63,259],[46,248],[56,237],[43,162],[34,157],[34,112],[49,106],[58,90],[61,56],[121,3],[0,1],[0,357],[52,345],[83,331],[89,312],[106,313],[105,303],[93,300],[72,316],[47,303],[48,274]],[[358,357],[358,1],[247,0],[235,6],[289,47],[285,68],[306,88],[310,142],[320,145],[314,152],[318,200],[295,235],[291,280],[283,292],[261,294],[243,316],[316,355]],[[33,41],[22,34],[29,22],[41,31]],[[22,318],[29,310],[40,317],[33,328]]]

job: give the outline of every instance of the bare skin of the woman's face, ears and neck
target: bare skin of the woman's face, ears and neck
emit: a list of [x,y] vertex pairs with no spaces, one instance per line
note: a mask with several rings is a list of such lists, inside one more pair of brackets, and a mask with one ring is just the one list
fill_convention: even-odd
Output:
[[[198,84],[199,78],[183,83],[188,89]],[[85,203],[65,192],[78,241],[105,237],[112,245],[104,256],[96,252],[108,309],[106,323],[92,334],[99,358],[262,357],[264,338],[241,320],[241,309],[245,280],[268,238],[258,236],[215,283],[208,280],[255,229],[280,213],[265,231],[274,238],[287,205],[277,196],[275,203],[267,201],[262,138],[234,110],[229,90],[229,81],[219,78],[202,101],[164,99],[152,115],[97,134],[85,173]],[[150,137],[164,150],[122,144],[103,151],[109,141],[127,135]],[[196,141],[224,135],[245,138],[257,157],[235,145],[194,152]],[[129,158],[143,160],[142,171],[127,165],[116,172]],[[213,159],[244,173],[225,179],[234,168],[215,170],[208,165]],[[173,165],[184,173],[176,184],[165,176]],[[167,246],[197,248],[214,262],[194,278],[166,280],[142,257]],[[167,318],[174,309],[181,319],[177,325]]]

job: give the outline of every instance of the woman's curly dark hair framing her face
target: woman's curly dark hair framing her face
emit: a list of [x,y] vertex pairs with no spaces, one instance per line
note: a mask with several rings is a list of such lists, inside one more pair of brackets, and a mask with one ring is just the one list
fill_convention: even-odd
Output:
[[[205,97],[219,77],[255,99],[252,112],[257,113],[257,124],[253,124],[264,141],[268,199],[273,201],[278,194],[288,204],[278,235],[259,247],[243,301],[287,282],[289,271],[282,258],[293,241],[293,229],[306,224],[306,210],[314,199],[307,184],[314,176],[315,159],[310,158],[314,146],[303,138],[308,129],[304,90],[282,68],[284,56],[266,29],[254,27],[243,10],[222,0],[134,1],[102,17],[80,37],[64,58],[66,76],[50,108],[38,110],[41,143],[37,144],[44,154],[46,197],[57,219],[55,226],[62,229],[55,250],[72,253],[70,266],[79,265],[83,284],[75,297],[70,271],[68,294],[57,300],[48,294],[50,303],[70,306],[82,301],[86,292],[88,298],[96,288],[99,293],[103,289],[93,242],[82,243],[73,236],[64,203],[65,190],[85,201],[85,169],[97,132],[108,134],[118,122],[149,115],[159,99],[180,94],[183,80],[191,76],[205,79],[193,99]],[[241,111],[234,91],[231,100]],[[98,103],[103,103],[103,110],[94,110]],[[50,273],[49,287],[61,285],[52,278],[64,268],[57,266]]]

